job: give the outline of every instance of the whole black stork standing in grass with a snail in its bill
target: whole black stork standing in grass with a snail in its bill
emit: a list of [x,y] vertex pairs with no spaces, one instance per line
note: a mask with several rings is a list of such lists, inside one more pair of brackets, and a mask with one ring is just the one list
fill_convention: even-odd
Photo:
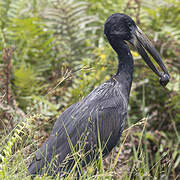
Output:
[[[50,137],[30,164],[30,175],[45,172],[54,175],[62,171],[62,162],[72,154],[72,147],[75,151],[80,149],[79,142],[82,139],[86,153],[81,161],[82,166],[97,156],[99,139],[104,147],[103,156],[117,145],[124,129],[133,79],[133,57],[127,42],[135,46],[147,65],[160,77],[162,86],[169,82],[169,73],[159,53],[129,16],[112,14],[105,22],[104,34],[118,55],[117,73],[60,115]],[[154,58],[163,72],[157,70],[146,52]],[[66,170],[69,171],[73,164],[73,158],[67,160]]]

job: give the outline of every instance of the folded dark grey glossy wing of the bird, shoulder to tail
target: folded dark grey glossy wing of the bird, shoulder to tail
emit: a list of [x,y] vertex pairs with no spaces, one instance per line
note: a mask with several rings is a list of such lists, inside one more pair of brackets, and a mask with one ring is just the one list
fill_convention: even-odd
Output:
[[71,145],[79,148],[79,139],[86,140],[87,150],[98,145],[98,128],[101,142],[107,143],[110,151],[122,132],[127,105],[128,97],[124,97],[118,83],[109,81],[95,88],[61,114],[49,139],[37,152],[36,161],[57,156],[58,162],[62,162],[71,153]]

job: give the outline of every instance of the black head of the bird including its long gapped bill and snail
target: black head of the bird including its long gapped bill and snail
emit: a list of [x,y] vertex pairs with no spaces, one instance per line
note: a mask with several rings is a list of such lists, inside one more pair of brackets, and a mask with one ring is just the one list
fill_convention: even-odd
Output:
[[[112,41],[113,43],[116,43],[117,41],[128,41],[132,44],[146,64],[160,77],[161,85],[167,85],[170,75],[163,64],[159,53],[131,17],[121,13],[112,14],[105,22],[104,34],[110,43]],[[157,70],[147,52],[158,63],[163,72]]]

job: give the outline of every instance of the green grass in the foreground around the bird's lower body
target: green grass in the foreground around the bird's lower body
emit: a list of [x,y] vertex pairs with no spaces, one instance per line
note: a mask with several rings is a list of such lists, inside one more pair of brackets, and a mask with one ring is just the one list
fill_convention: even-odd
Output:
[[[144,112],[143,116],[145,116],[144,88],[143,97],[142,109]],[[27,167],[38,149],[38,142],[40,141],[40,138],[35,140],[34,134],[41,134],[42,131],[42,127],[39,129],[34,128],[36,126],[34,123],[40,119],[43,119],[43,117],[38,114],[29,116],[25,121],[19,122],[7,136],[5,136],[4,133],[1,137],[0,179],[29,179]],[[68,174],[67,172],[65,172],[65,174],[61,172],[61,176],[66,175],[66,180],[74,179],[78,172],[80,179],[89,180],[110,180],[113,178],[122,180],[178,179],[180,177],[180,174],[177,172],[180,166],[180,135],[176,124],[173,123],[173,133],[177,140],[174,141],[174,139],[169,139],[164,132],[158,132],[160,136],[160,138],[158,138],[156,132],[147,128],[149,120],[150,118],[146,117],[136,124],[131,124],[129,117],[127,118],[129,128],[124,130],[121,142],[115,150],[113,150],[113,153],[106,158],[106,160],[108,159],[108,163],[105,163],[106,160],[103,158],[102,152],[104,147],[100,141],[99,125],[97,123],[98,158],[94,158],[86,167],[82,167],[81,161],[85,160],[88,153],[85,153],[84,150],[87,133],[81,135],[81,141],[80,144],[78,144],[80,148],[78,152],[76,152],[66,131],[72,152],[71,156],[68,156],[66,160],[73,158],[75,163]],[[176,142],[175,145],[174,142]],[[126,151],[129,153],[127,154]],[[52,163],[50,163],[48,169],[51,168],[51,164]],[[58,174],[57,177],[54,178],[44,174],[43,176],[37,176],[36,179],[59,179],[59,176]]]

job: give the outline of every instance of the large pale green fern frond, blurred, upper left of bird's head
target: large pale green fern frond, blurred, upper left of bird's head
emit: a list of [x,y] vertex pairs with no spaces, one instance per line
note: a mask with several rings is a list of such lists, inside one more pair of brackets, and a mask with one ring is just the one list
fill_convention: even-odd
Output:
[[87,48],[86,41],[88,37],[95,36],[92,32],[98,29],[98,26],[94,25],[98,19],[86,15],[87,2],[51,2],[52,7],[44,11],[43,17],[48,28],[52,29],[56,36],[55,46],[61,53],[58,59],[61,62],[71,62],[72,67],[89,54],[92,47]]

